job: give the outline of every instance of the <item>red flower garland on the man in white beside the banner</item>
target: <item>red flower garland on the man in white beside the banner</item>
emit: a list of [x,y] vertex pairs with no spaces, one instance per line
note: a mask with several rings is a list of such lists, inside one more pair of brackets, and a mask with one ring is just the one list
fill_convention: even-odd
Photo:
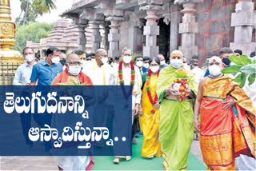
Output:
[[124,89],[124,86],[123,86],[125,85],[125,81],[123,80],[123,76],[122,76],[122,62],[119,62],[118,78],[119,78],[119,84],[122,85],[122,92],[124,93],[127,99],[134,90],[134,80],[135,80],[134,62],[130,62],[130,85],[131,86],[130,86],[129,93],[126,93],[126,89]]

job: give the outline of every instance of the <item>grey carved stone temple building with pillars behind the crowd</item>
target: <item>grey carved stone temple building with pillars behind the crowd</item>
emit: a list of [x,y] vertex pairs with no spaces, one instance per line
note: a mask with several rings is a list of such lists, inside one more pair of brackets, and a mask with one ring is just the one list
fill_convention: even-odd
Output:
[[178,49],[186,58],[198,55],[201,64],[222,47],[249,55],[256,50],[255,6],[255,0],[74,0],[61,14],[73,22],[56,22],[38,50],[105,48],[113,58],[127,46],[135,54],[167,58]]

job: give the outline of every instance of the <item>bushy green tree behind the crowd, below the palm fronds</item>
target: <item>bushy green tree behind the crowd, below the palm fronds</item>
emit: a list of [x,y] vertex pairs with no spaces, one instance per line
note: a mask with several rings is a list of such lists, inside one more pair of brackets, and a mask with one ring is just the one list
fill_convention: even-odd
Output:
[[22,53],[23,48],[26,46],[26,41],[38,43],[40,38],[47,38],[53,28],[54,24],[44,22],[29,22],[26,26],[17,25],[14,50]]

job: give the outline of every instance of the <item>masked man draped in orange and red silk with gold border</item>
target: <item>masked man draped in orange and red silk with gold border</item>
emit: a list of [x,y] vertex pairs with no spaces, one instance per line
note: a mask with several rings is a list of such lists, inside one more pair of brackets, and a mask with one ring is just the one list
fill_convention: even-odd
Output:
[[255,109],[233,77],[222,74],[223,68],[221,58],[210,58],[210,75],[199,83],[194,106],[194,127],[200,129],[202,157],[209,170],[236,169],[234,157],[240,154],[255,158]]

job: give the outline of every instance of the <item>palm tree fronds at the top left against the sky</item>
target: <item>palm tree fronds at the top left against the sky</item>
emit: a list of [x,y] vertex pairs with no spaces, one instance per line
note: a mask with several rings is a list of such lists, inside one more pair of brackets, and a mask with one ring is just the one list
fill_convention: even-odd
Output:
[[[16,22],[25,25],[28,22],[34,22],[38,14],[50,13],[50,10],[56,8],[54,0],[20,0],[21,14],[16,18]],[[23,14],[23,15],[22,15]],[[22,17],[23,16],[23,17]]]

